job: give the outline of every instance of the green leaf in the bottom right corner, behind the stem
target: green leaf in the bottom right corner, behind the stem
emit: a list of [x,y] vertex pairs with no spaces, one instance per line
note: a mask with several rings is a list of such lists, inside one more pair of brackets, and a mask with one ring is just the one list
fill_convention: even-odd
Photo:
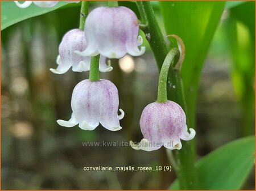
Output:
[[[199,189],[241,189],[253,168],[254,154],[254,137],[237,139],[210,152],[196,163]],[[179,189],[179,182],[175,181],[170,189]]]

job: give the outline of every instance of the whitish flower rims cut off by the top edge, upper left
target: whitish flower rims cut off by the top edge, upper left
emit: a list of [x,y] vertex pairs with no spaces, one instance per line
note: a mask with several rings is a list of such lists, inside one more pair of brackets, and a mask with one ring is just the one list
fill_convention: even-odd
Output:
[[[16,6],[18,6],[19,8],[27,8],[29,7],[32,3],[34,3],[36,6],[38,7],[54,7],[55,5],[57,5],[57,3],[59,1],[25,1],[24,3],[19,3],[19,1],[14,1]],[[71,3],[79,3],[80,1],[67,1],[67,2],[71,2]]]

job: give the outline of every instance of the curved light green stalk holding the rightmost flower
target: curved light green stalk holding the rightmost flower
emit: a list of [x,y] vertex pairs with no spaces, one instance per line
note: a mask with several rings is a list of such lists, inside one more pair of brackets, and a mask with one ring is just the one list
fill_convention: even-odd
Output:
[[159,81],[158,81],[158,99],[157,101],[159,103],[166,102],[167,99],[167,77],[168,77],[168,71],[170,69],[171,63],[174,61],[174,58],[176,60],[179,60],[180,52],[179,49],[173,48],[170,50],[170,52],[167,54],[166,58],[164,59],[162,69],[160,71],[159,75]]

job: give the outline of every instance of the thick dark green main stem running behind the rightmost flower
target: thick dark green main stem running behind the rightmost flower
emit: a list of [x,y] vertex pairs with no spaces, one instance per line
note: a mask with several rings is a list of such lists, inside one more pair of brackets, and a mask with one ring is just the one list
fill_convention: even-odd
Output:
[[[160,31],[158,22],[156,21],[154,11],[149,1],[137,1],[138,10],[141,14],[143,23],[146,23],[147,27],[143,29],[147,34],[148,43],[151,46],[154,53],[158,69],[162,67],[162,63],[168,54],[168,46],[166,44],[166,38]],[[183,82],[180,76],[180,70],[169,70],[168,80],[170,80],[172,91],[167,91],[168,98],[178,103],[185,111],[187,115],[187,107],[184,98]],[[170,90],[170,89],[169,89]],[[188,116],[188,115],[187,115]],[[187,125],[190,125],[192,119],[187,118]],[[182,143],[182,148],[176,151],[177,158],[177,179],[179,180],[180,189],[198,189],[197,173],[195,167],[195,150],[190,142]]]

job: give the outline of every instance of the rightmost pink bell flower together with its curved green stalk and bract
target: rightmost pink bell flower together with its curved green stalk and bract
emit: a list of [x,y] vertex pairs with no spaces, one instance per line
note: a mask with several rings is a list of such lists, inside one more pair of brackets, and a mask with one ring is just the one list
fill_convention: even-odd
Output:
[[[182,39],[176,35],[172,36],[177,39],[179,49],[172,48],[164,59],[158,81],[158,99],[144,108],[139,121],[144,138],[138,144],[130,141],[131,147],[136,150],[154,151],[162,146],[179,150],[182,147],[180,139],[189,141],[196,135],[196,131],[192,128],[189,129],[190,134],[188,133],[185,112],[180,105],[167,98],[168,71],[171,66],[174,70],[176,65],[179,67],[175,70],[180,70],[185,56]],[[171,65],[172,63],[174,65]]]

